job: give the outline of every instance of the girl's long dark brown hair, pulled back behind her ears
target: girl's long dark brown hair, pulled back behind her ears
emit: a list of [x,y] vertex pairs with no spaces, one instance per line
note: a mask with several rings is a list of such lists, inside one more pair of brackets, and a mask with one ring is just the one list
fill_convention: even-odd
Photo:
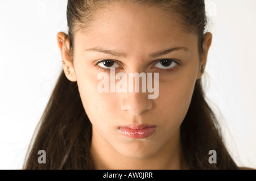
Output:
[[[71,57],[75,33],[84,31],[89,26],[93,14],[100,10],[101,5],[112,2],[123,1],[68,1],[67,37],[70,47],[67,50]],[[203,37],[207,25],[204,0],[132,2],[158,6],[170,12],[185,31],[198,35],[199,54],[203,52]],[[90,155],[92,125],[82,106],[77,82],[68,81],[64,72],[61,72],[57,80],[34,136],[23,169],[94,169]],[[216,116],[205,101],[201,79],[195,83],[191,104],[181,124],[180,139],[183,169],[238,169],[224,145]],[[45,150],[47,153],[45,164],[38,163],[39,150]],[[216,150],[216,164],[209,163],[209,150]]]

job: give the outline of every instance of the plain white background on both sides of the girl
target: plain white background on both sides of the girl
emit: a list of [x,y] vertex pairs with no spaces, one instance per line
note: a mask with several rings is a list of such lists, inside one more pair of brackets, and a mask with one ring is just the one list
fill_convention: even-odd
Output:
[[[256,1],[206,1],[213,33],[203,81],[239,166],[256,168]],[[21,169],[62,65],[67,1],[0,1],[0,169]]]

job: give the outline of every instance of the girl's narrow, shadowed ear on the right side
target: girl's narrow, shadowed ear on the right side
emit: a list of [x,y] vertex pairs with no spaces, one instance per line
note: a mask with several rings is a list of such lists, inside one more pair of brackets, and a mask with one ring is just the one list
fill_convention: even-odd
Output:
[[204,66],[205,68],[207,64],[207,54],[211,44],[212,44],[212,33],[207,32],[204,34],[203,52],[200,54],[200,64],[199,64],[197,79],[200,79],[204,73],[204,69],[202,70],[202,66]]

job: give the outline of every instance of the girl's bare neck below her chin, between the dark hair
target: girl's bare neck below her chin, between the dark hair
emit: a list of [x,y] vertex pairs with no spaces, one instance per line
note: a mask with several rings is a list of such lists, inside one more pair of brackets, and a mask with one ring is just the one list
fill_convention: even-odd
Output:
[[[104,148],[104,149],[102,149]],[[97,170],[166,170],[181,169],[180,129],[157,153],[148,158],[127,158],[111,146],[102,145],[92,137],[90,148],[94,167]]]

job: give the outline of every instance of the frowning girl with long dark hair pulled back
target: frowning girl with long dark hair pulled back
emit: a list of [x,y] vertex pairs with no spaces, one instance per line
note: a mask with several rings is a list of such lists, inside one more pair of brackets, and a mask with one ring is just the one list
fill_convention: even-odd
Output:
[[[212,42],[203,0],[69,0],[67,20],[64,71],[24,169],[238,169],[201,86]],[[110,70],[152,73],[157,98],[109,90]]]

